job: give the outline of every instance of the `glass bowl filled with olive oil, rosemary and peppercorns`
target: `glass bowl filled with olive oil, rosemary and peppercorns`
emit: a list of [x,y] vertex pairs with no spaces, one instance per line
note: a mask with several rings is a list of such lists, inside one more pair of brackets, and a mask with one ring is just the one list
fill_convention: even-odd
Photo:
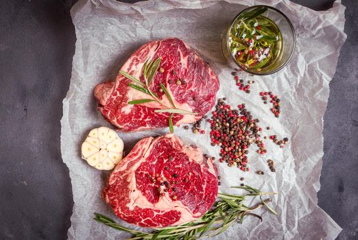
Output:
[[[271,18],[275,15],[267,14],[274,11],[272,9],[265,5],[254,6],[235,18],[223,38],[224,56],[229,62],[233,61],[244,71],[256,75],[274,73],[285,66],[294,52],[296,37],[291,27],[291,37],[287,37],[289,42],[286,43],[287,27],[283,27],[283,33]],[[279,20],[277,22],[282,25],[284,21]]]

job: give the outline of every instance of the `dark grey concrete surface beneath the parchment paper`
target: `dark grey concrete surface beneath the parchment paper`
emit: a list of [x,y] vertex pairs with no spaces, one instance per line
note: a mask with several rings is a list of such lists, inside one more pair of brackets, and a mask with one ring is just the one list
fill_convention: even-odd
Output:
[[[294,0],[315,10],[331,0]],[[75,0],[0,1],[0,239],[66,239],[73,206],[60,154],[62,99],[69,88]],[[130,2],[130,1],[129,1]],[[319,205],[358,239],[358,1],[345,32],[324,115]]]

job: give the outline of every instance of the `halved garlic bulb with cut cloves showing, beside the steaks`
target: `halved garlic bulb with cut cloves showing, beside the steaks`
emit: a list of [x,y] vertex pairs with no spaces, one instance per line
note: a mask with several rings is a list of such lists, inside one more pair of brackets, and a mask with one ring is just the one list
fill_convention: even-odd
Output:
[[82,143],[82,158],[99,170],[111,170],[123,158],[123,141],[106,127],[95,128]]

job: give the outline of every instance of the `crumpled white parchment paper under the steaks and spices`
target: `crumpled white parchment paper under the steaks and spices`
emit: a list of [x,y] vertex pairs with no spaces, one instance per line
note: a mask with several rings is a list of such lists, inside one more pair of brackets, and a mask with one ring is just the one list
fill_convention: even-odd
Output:
[[[273,5],[284,12],[296,29],[297,45],[293,58],[282,71],[269,76],[240,77],[254,80],[246,94],[237,90],[221,51],[221,35],[234,16],[249,5]],[[150,40],[178,37],[196,49],[219,75],[221,87],[217,97],[227,97],[237,106],[246,103],[258,117],[263,135],[277,134],[290,141],[284,149],[267,140],[267,154],[259,156],[250,148],[250,168],[243,172],[217,163],[222,185],[219,191],[245,183],[262,191],[276,191],[273,206],[279,215],[260,209],[263,222],[248,217],[213,239],[335,239],[341,228],[317,205],[320,189],[323,136],[322,117],[329,97],[329,82],[337,64],[344,34],[344,6],[336,2],[328,11],[315,12],[289,1],[144,1],[135,4],[110,0],[82,0],[71,9],[77,42],[71,85],[63,101],[61,152],[69,167],[73,190],[73,215],[69,239],[124,239],[129,235],[94,221],[99,212],[120,221],[101,198],[108,171],[98,171],[80,158],[80,145],[92,128],[109,124],[96,109],[93,88],[112,80],[121,65],[136,49]],[[260,91],[272,91],[281,98],[281,117],[264,105]],[[202,123],[206,132],[209,124]],[[271,130],[265,130],[270,126]],[[123,134],[119,136],[126,152],[143,138],[157,136],[168,129]],[[192,134],[176,128],[184,141],[196,143],[203,152],[218,157],[219,148],[211,147],[207,134]],[[276,173],[267,167],[267,158],[275,162]],[[255,171],[265,171],[258,176]],[[253,200],[252,204],[258,200]],[[250,204],[250,202],[248,202]],[[133,226],[132,226],[133,227]]]

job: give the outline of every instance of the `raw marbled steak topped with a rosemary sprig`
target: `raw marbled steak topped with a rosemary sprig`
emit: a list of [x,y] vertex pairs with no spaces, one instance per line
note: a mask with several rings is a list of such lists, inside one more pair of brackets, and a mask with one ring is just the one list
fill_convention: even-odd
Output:
[[[180,125],[201,119],[215,104],[219,80],[211,67],[182,40],[169,38],[147,43],[130,56],[121,70],[145,82],[142,77],[145,61],[154,61],[159,57],[162,58],[160,67],[164,72],[156,72],[150,89],[171,106],[165,93],[160,92],[160,83],[163,83],[174,97],[177,108],[198,113],[195,116],[175,114],[173,123]],[[178,80],[180,85],[177,84]],[[95,87],[95,97],[102,115],[123,132],[167,127],[169,113],[154,112],[163,108],[157,102],[127,104],[131,100],[151,98],[128,86],[130,82],[118,74],[115,82],[105,82]]]

